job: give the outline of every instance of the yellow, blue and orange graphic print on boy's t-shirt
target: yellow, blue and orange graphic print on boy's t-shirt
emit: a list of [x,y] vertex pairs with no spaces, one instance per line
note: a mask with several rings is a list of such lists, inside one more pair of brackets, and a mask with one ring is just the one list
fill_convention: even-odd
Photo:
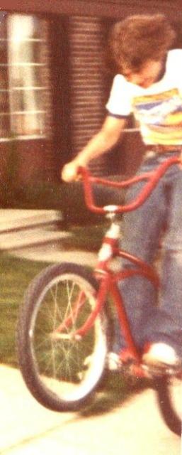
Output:
[[133,112],[147,143],[182,144],[182,97],[178,89],[135,97]]

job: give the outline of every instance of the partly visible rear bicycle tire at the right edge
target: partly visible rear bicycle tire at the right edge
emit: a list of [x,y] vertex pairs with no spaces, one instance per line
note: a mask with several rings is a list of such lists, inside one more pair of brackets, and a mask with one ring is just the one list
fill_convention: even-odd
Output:
[[174,377],[157,378],[154,382],[159,410],[167,427],[181,437],[182,380]]

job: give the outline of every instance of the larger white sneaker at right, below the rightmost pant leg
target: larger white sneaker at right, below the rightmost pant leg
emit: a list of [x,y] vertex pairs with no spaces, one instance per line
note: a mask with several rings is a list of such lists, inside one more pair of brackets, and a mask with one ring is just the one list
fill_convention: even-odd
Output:
[[166,365],[176,367],[179,358],[171,346],[166,343],[153,343],[149,345],[142,355],[142,360],[148,365]]

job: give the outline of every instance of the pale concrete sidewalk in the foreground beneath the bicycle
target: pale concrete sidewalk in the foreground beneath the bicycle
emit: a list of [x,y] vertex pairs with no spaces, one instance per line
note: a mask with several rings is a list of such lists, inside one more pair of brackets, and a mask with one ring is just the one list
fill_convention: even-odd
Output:
[[164,425],[152,390],[104,414],[59,414],[34,400],[18,370],[0,365],[0,403],[0,454],[181,454],[181,440]]

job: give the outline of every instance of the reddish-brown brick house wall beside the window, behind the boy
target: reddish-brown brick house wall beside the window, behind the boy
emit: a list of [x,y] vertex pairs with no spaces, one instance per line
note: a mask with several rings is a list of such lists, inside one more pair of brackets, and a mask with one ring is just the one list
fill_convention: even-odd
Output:
[[[178,45],[181,46],[180,2],[176,1],[171,4],[171,1],[152,0],[147,2],[138,0],[54,0],[43,3],[40,0],[6,0],[0,1],[0,4],[1,10],[4,9],[9,14],[16,11],[35,14],[35,16],[38,15],[45,19],[45,26],[46,22],[49,24],[47,48],[45,48],[45,63],[47,62],[45,81],[49,82],[50,87],[50,97],[46,98],[46,109],[49,112],[47,117],[48,136],[38,139],[28,138],[14,141],[13,138],[13,141],[0,141],[1,181],[7,180],[12,172],[13,175],[16,175],[17,185],[20,186],[27,185],[29,181],[35,180],[36,182],[38,179],[47,183],[59,181],[60,166],[69,161],[86,144],[86,141],[99,129],[106,114],[105,103],[113,73],[107,67],[106,56],[101,53],[101,48],[104,49],[110,24],[124,18],[127,14],[165,12],[178,28]],[[81,31],[81,28],[82,41],[78,40],[78,32]],[[88,57],[87,60],[85,59],[86,43],[90,44],[87,54],[90,52],[89,55],[93,59],[92,67],[88,62]],[[94,75],[96,79],[93,84],[92,78],[90,78],[90,82],[87,84],[88,75],[95,65],[95,55],[97,64]],[[98,55],[101,55],[99,65]],[[77,67],[80,65],[82,69],[88,65],[85,91],[84,83],[79,82],[79,77],[76,78],[76,65]],[[91,108],[88,114],[89,102],[91,102]],[[84,118],[83,122],[80,121],[81,118]],[[106,175],[107,173],[131,174],[135,172],[142,159],[144,146],[140,135],[132,131],[132,119],[128,129],[130,131],[125,133],[116,149],[110,151],[108,156],[93,162],[94,173]]]

